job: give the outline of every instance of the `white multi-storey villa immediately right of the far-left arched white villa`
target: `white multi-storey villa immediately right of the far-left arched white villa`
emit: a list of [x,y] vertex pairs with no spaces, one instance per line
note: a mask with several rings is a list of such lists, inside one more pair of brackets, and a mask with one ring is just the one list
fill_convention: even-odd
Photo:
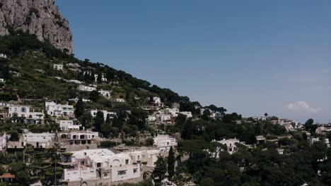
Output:
[[45,109],[51,116],[74,116],[74,106],[57,104],[54,101],[45,101]]

